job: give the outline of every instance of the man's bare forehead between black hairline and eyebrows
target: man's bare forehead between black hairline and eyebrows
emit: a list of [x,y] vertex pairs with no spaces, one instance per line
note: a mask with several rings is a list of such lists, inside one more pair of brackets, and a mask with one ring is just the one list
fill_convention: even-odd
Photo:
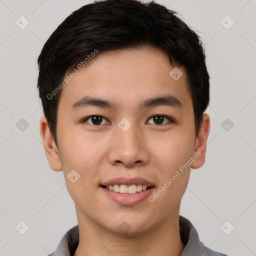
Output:
[[132,108],[135,102],[139,107],[142,100],[163,94],[184,105],[191,101],[185,69],[170,65],[167,54],[155,47],[99,52],[76,69],[61,91],[59,104],[65,107],[86,95],[108,99],[117,108]]

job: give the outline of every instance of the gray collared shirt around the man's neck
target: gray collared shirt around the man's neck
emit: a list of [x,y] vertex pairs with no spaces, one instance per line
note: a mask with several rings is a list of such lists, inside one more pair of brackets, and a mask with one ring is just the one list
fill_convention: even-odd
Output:
[[[180,237],[185,248],[180,256],[227,256],[204,246],[191,222],[179,216]],[[48,256],[73,256],[79,242],[78,225],[70,228],[60,240],[56,250]]]

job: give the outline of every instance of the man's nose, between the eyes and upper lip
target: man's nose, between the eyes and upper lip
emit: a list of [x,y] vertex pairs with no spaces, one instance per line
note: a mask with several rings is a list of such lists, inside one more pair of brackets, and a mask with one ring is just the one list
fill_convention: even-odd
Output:
[[126,131],[116,127],[116,135],[109,145],[108,160],[111,164],[138,167],[148,162],[149,149],[145,135],[142,131],[138,132],[135,126],[131,125]]

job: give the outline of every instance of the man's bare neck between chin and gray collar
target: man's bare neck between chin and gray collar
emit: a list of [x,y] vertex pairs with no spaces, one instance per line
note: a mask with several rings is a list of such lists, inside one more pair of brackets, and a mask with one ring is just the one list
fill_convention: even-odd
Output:
[[98,227],[76,209],[79,243],[74,256],[180,256],[184,244],[180,239],[179,215],[171,215],[163,222],[141,234],[120,234]]

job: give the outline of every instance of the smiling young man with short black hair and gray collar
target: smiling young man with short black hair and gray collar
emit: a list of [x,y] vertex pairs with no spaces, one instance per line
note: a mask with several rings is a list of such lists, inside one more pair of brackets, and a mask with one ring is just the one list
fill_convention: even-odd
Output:
[[50,255],[224,255],[179,216],[210,126],[196,33],[153,1],[94,1],[57,27],[38,65],[45,154],[78,220]]

